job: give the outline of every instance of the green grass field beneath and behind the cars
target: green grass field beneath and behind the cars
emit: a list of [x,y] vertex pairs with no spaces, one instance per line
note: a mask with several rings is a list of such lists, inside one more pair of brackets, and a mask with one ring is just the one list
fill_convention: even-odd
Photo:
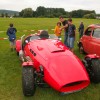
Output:
[[[57,18],[0,18],[0,38],[7,37],[6,30],[9,23],[14,23],[17,28],[17,39],[23,34],[35,33],[30,30],[49,29],[49,33],[53,33]],[[92,23],[100,23],[96,19],[73,19],[73,23],[78,26],[83,21],[85,28]],[[23,30],[28,30],[25,32]],[[63,36],[62,36],[63,38]],[[78,31],[77,38],[78,41]],[[79,58],[84,55],[79,54],[78,47],[75,42],[75,54]],[[21,83],[21,62],[16,52],[11,52],[8,40],[0,40],[0,100],[100,100],[100,84],[90,84],[86,89],[73,94],[60,95],[52,88],[37,87],[33,97],[24,97],[22,93]]]

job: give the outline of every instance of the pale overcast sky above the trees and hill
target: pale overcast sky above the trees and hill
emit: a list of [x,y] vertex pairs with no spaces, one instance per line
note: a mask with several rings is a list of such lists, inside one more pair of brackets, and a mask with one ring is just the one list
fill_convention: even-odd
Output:
[[100,0],[0,0],[0,9],[21,11],[31,7],[36,10],[38,6],[64,8],[66,11],[95,10],[100,13]]

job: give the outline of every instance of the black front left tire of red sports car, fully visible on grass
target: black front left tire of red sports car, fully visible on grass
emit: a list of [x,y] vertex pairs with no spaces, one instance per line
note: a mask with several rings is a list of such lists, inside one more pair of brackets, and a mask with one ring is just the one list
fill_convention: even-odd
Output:
[[24,96],[33,96],[36,90],[33,67],[22,68],[22,88]]

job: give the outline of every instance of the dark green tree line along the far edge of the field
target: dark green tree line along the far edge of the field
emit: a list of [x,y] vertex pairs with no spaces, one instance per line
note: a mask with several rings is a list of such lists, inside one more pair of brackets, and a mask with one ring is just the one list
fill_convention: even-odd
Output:
[[[37,7],[34,11],[32,8],[25,8],[19,12],[19,14],[14,14],[14,17],[23,17],[23,18],[31,18],[31,17],[47,17],[47,18],[58,18],[59,16],[63,16],[65,18],[96,18],[95,10],[73,10],[71,12],[65,11],[64,8],[45,8],[43,6]],[[9,14],[1,14],[1,17],[9,17]]]

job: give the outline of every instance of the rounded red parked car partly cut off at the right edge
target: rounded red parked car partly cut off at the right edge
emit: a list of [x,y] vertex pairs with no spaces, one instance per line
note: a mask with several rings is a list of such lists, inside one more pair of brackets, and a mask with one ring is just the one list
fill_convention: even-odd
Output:
[[80,52],[100,56],[100,24],[88,26],[78,46]]

